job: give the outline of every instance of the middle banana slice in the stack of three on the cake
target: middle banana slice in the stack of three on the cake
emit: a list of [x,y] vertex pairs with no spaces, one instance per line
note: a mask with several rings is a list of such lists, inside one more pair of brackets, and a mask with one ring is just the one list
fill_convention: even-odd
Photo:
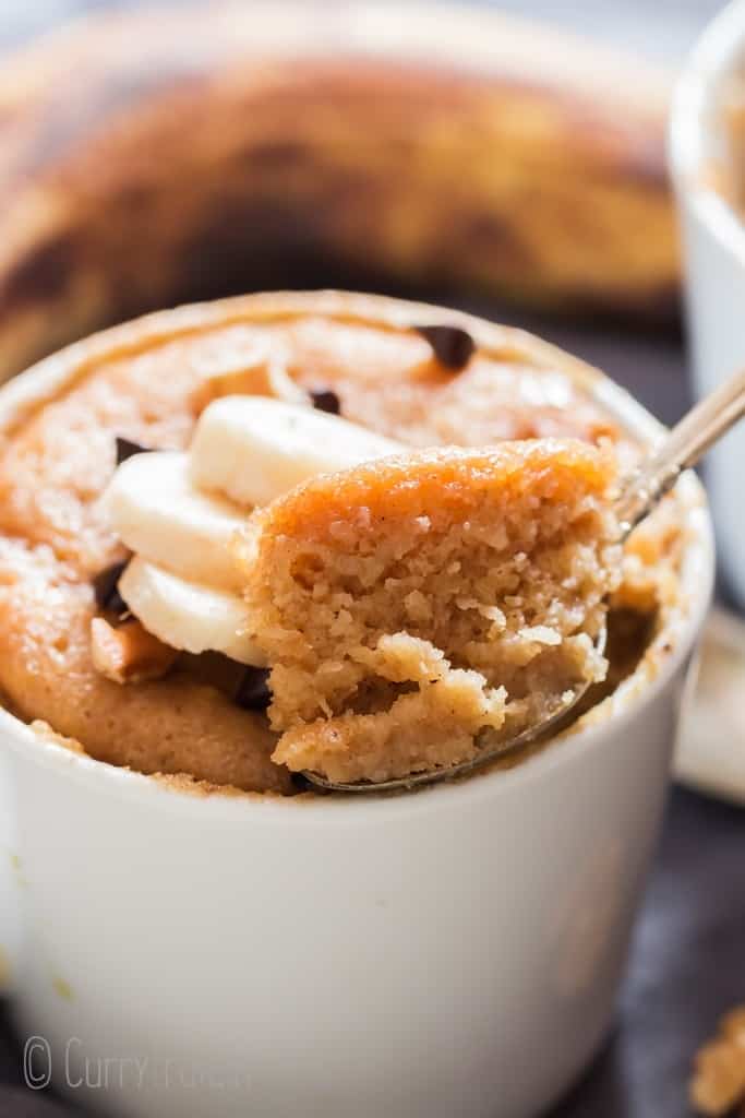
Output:
[[103,508],[131,551],[193,582],[240,589],[230,543],[246,513],[194,490],[188,455],[163,451],[128,458],[104,493]]

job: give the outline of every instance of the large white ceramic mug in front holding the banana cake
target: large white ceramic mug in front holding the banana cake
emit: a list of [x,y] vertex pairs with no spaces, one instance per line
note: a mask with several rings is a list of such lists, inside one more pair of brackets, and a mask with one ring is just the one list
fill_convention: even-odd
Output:
[[610,1027],[709,600],[701,491],[679,492],[688,609],[657,671],[510,770],[394,798],[199,796],[0,711],[0,946],[27,1077],[131,1118],[548,1106]]

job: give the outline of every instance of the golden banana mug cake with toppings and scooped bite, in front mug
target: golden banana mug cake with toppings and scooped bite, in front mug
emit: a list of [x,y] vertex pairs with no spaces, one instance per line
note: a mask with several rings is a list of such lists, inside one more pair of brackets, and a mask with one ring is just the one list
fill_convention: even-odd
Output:
[[604,717],[671,651],[677,498],[621,550],[640,452],[522,331],[248,296],[34,376],[0,446],[0,689],[101,761],[279,795],[447,769],[581,685]]

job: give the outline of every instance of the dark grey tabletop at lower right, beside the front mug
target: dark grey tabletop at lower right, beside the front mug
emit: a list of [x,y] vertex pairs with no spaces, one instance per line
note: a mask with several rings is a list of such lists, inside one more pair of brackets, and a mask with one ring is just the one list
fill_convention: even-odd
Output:
[[745,1001],[744,843],[741,809],[671,795],[615,1032],[552,1118],[689,1115],[691,1053]]

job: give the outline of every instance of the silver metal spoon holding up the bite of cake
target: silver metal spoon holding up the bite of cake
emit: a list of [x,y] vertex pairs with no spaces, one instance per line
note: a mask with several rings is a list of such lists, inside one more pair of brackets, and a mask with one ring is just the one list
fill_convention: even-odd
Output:
[[[725,381],[714,392],[697,404],[667,438],[653,449],[634,473],[627,479],[615,502],[615,515],[621,529],[621,540],[625,540],[640,521],[672,489],[684,470],[696,465],[699,458],[745,415],[745,370]],[[603,628],[595,637],[600,653],[605,648],[606,633]],[[514,738],[486,743],[478,755],[460,765],[412,773],[410,776],[378,784],[360,780],[343,784],[328,780],[318,773],[303,775],[311,783],[328,792],[400,792],[422,785],[437,784],[465,776],[503,757],[515,757],[563,721],[576,707],[591,684],[574,689],[567,700],[557,699],[554,709],[539,722],[527,727]]]

